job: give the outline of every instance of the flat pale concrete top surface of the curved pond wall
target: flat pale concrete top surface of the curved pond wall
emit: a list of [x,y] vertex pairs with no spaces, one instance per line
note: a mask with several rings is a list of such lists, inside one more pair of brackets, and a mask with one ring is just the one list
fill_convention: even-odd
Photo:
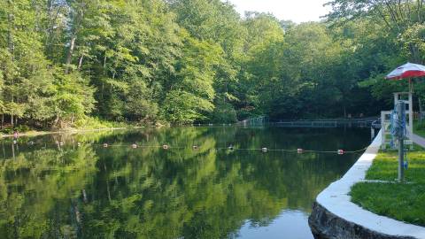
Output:
[[[417,137],[418,142],[422,139]],[[344,175],[344,177],[329,185],[321,192],[316,201],[332,212],[337,217],[359,225],[360,227],[390,236],[406,236],[413,238],[425,238],[425,227],[418,227],[412,224],[393,220],[387,217],[376,215],[353,204],[349,195],[351,188],[359,181],[364,181],[367,169],[372,163],[381,146],[381,134],[375,138],[374,142],[367,148],[366,152],[359,158],[354,166]],[[421,142],[422,143],[422,142]],[[425,145],[425,140],[423,140]]]

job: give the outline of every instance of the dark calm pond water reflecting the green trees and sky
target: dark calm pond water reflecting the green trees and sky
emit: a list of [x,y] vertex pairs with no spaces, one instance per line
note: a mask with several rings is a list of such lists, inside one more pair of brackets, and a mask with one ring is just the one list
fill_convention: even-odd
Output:
[[312,238],[314,198],[359,153],[216,149],[359,150],[369,135],[182,127],[0,143],[0,238]]

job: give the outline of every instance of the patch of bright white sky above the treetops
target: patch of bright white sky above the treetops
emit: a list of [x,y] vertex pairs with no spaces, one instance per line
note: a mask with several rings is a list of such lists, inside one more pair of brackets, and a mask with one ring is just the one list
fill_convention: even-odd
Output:
[[329,12],[323,4],[329,0],[229,0],[236,5],[236,11],[270,12],[278,19],[292,20],[297,23],[318,21]]

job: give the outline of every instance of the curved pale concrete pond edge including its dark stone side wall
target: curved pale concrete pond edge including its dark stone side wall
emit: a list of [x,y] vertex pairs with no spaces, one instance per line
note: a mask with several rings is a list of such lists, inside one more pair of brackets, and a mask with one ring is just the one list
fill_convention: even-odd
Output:
[[316,198],[310,227],[316,238],[425,238],[425,227],[379,216],[351,202],[354,184],[364,181],[381,146],[381,134],[345,173]]

